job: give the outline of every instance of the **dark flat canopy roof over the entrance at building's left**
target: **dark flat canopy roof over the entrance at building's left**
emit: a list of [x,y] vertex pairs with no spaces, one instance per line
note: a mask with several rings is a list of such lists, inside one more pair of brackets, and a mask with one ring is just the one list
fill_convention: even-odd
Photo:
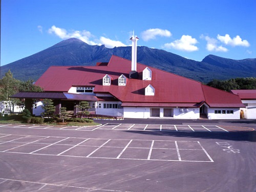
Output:
[[94,95],[82,95],[67,92],[19,92],[11,96],[11,98],[20,99],[61,99],[61,100],[86,100],[97,101]]

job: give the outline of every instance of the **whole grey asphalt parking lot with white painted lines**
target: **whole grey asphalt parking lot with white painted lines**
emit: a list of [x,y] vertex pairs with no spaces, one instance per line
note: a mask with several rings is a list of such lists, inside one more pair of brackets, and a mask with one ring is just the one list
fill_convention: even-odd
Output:
[[256,191],[254,121],[151,121],[2,124],[0,190]]

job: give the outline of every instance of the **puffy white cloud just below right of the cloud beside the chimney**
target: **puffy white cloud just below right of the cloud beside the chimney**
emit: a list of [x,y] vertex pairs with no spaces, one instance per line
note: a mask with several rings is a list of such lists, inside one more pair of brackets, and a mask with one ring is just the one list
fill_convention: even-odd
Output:
[[173,48],[181,51],[192,52],[192,51],[198,50],[198,47],[195,46],[195,44],[197,43],[198,43],[197,39],[192,38],[190,35],[182,35],[180,39],[177,39],[168,44],[164,44],[163,47],[168,49]]

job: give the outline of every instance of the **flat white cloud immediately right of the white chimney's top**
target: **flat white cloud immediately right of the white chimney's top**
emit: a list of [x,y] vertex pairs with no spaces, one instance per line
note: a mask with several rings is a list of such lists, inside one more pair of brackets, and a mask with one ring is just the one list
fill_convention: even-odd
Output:
[[168,30],[163,29],[147,29],[141,33],[141,38],[144,41],[148,41],[150,39],[155,39],[156,36],[164,36],[164,37],[170,37],[172,36],[172,33],[170,33]]

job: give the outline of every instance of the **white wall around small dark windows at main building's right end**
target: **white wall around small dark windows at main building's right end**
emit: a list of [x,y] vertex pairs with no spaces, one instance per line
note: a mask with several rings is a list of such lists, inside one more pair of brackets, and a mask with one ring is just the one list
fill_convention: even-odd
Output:
[[[215,110],[233,110],[233,114],[215,114]],[[240,119],[239,108],[209,108],[208,119]]]

